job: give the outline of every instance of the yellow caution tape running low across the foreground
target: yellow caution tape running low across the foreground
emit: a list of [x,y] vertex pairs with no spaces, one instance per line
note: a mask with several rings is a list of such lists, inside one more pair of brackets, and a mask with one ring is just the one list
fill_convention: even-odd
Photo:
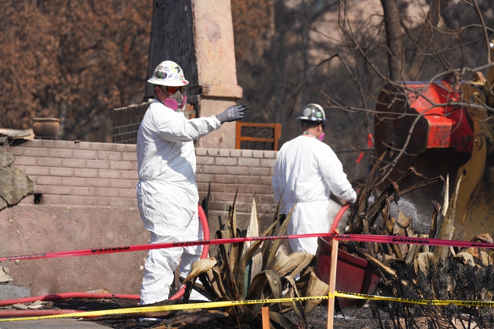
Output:
[[325,296],[313,296],[313,297],[252,299],[252,300],[228,300],[228,301],[213,301],[213,302],[202,302],[202,303],[191,303],[191,304],[141,306],[141,307],[120,308],[120,309],[103,310],[103,311],[90,311],[90,312],[46,315],[46,316],[41,316],[41,317],[0,319],[0,322],[41,320],[41,319],[62,319],[62,318],[86,318],[86,317],[97,317],[97,316],[104,316],[104,315],[127,315],[127,314],[139,314],[139,313],[148,313],[148,312],[166,312],[166,311],[178,311],[178,310],[193,310],[193,309],[201,309],[201,308],[218,308],[218,307],[250,305],[250,304],[287,303],[287,302],[293,302],[293,301],[323,300],[323,299],[328,299],[328,297],[334,298],[335,296],[336,297],[343,297],[343,298],[396,301],[396,302],[422,304],[422,305],[427,305],[427,304],[430,304],[430,305],[448,305],[450,303],[453,303],[453,304],[458,305],[458,306],[489,306],[489,307],[494,306],[494,301],[408,299],[408,298],[397,298],[397,297],[373,296],[373,295],[367,295],[367,294],[362,294],[362,293],[353,293],[353,292],[334,292],[334,294],[328,294]]

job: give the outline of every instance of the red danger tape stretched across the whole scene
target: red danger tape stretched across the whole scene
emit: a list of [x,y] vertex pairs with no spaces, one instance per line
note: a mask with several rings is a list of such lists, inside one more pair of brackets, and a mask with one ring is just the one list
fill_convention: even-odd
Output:
[[414,237],[389,236],[389,235],[310,233],[310,234],[298,234],[298,235],[257,236],[257,237],[244,237],[244,238],[166,242],[166,243],[153,243],[153,244],[134,245],[134,246],[82,249],[82,250],[34,254],[34,255],[25,255],[25,256],[1,257],[0,261],[15,260],[15,259],[41,259],[41,258],[89,256],[89,255],[123,253],[123,252],[132,252],[132,251],[150,250],[150,249],[165,249],[165,248],[199,246],[199,245],[219,245],[225,243],[239,243],[245,241],[267,241],[267,240],[299,239],[299,238],[314,238],[314,237],[332,237],[334,239],[346,240],[346,241],[494,249],[494,244],[484,243],[484,242],[414,238]]

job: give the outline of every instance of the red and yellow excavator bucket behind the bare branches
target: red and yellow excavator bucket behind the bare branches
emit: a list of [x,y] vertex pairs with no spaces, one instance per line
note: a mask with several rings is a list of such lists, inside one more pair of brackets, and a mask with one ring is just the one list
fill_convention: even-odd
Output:
[[[494,134],[485,110],[494,97],[482,75],[461,84],[451,81],[386,85],[376,105],[375,149],[380,154],[394,143],[394,158],[381,173],[388,175],[387,182],[395,181],[409,166],[426,178],[449,176],[451,182],[461,178],[453,239],[470,240],[492,233],[494,223]],[[450,184],[449,195],[454,186]],[[432,217],[431,201],[442,200],[441,190],[430,186],[412,197],[421,211],[419,220],[429,220],[421,225],[425,230]]]

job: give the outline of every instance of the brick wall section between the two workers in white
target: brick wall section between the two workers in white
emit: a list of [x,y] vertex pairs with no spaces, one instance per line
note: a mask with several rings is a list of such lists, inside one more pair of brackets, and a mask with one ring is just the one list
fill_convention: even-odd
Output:
[[271,189],[276,151],[249,149],[196,148],[197,185],[199,198],[209,196],[209,228],[214,232],[226,223],[228,210],[237,196],[239,229],[246,229],[252,208],[252,196],[256,195],[257,213],[261,230],[267,227],[277,204]]

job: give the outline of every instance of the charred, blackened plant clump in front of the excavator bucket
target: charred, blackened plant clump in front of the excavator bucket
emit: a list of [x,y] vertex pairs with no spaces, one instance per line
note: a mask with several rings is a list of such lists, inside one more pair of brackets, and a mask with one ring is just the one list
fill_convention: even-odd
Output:
[[[350,233],[387,234],[404,237],[431,237],[451,239],[457,183],[453,195],[447,194],[448,178],[436,177],[432,180],[401,189],[402,183],[411,176],[421,177],[414,168],[409,168],[397,182],[386,186],[377,193],[373,186],[373,174],[382,159],[391,150],[388,148],[377,160],[362,190],[358,201],[352,206],[348,220]],[[412,229],[413,218],[402,212],[391,216],[390,206],[398,204],[400,197],[414,189],[431,183],[443,183],[443,207],[433,201],[431,224],[428,234],[419,234]],[[375,201],[369,202],[370,196]],[[425,205],[416,205],[417,207]],[[382,220],[382,225],[377,225]],[[481,234],[472,239],[493,243],[489,234]],[[492,250],[480,248],[455,249],[443,246],[362,244],[340,242],[341,248],[368,260],[381,273],[377,292],[383,296],[421,300],[476,300],[491,301],[494,293],[494,267]],[[460,307],[415,305],[401,302],[370,301],[373,316],[380,328],[419,328],[414,319],[423,318],[429,328],[493,328],[494,311],[491,307]],[[385,309],[379,313],[377,308]],[[387,314],[384,318],[383,314]]]

